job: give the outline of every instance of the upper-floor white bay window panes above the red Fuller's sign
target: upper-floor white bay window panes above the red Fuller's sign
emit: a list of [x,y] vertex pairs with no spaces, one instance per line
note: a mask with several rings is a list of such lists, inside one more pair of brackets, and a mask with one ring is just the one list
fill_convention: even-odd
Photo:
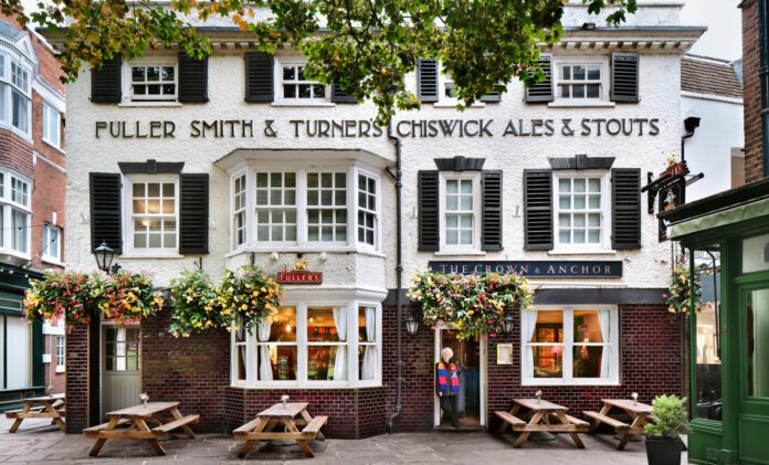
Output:
[[231,183],[233,250],[379,247],[380,178],[368,171],[256,167]]

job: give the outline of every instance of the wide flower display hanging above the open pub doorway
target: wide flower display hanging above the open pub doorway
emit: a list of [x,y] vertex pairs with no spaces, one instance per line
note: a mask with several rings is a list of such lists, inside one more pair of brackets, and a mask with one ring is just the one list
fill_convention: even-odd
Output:
[[534,299],[528,279],[517,274],[457,275],[425,271],[412,277],[409,298],[428,326],[453,325],[459,339],[494,334],[507,313]]

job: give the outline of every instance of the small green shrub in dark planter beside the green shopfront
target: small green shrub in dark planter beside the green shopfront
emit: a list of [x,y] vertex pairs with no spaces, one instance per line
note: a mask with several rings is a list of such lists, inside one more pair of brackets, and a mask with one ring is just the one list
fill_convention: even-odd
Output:
[[680,465],[681,440],[686,433],[686,399],[659,395],[652,401],[654,421],[644,426],[649,465]]

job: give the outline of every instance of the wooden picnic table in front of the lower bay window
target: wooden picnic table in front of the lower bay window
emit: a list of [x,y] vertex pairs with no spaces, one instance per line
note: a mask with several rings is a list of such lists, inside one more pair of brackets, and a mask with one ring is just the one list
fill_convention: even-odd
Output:
[[[233,431],[235,441],[245,441],[238,456],[245,457],[257,441],[265,441],[265,445],[270,441],[294,441],[305,456],[313,457],[313,451],[307,445],[307,441],[325,440],[320,427],[326,424],[328,416],[313,418],[307,412],[307,402],[276,403],[257,413],[255,420]],[[301,419],[297,419],[297,415],[301,415]],[[273,431],[280,425],[284,425],[286,431]],[[304,429],[299,431],[297,425],[304,425]]]

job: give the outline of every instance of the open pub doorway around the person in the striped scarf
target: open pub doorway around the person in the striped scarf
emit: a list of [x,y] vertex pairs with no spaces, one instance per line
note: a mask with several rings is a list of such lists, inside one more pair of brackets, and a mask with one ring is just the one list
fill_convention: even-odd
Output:
[[[486,424],[486,341],[483,336],[474,336],[466,340],[456,338],[457,331],[450,328],[435,329],[435,358],[441,359],[441,350],[450,347],[454,351],[454,358],[460,362],[460,398],[457,406],[460,411],[460,430],[477,431]],[[436,430],[453,431],[451,419],[442,415],[441,401],[435,398]]]

